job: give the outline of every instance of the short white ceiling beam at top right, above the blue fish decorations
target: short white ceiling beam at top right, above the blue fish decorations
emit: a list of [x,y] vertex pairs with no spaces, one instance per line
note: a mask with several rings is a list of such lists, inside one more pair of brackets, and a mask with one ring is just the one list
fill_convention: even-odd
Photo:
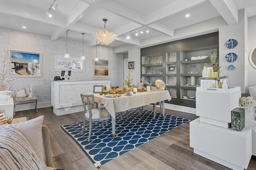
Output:
[[238,23],[238,10],[232,0],[209,1],[229,25]]

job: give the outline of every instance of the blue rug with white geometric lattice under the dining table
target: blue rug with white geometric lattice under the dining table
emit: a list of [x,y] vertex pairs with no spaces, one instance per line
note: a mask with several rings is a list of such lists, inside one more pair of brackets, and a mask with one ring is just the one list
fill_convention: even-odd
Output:
[[76,141],[84,153],[90,158],[97,168],[106,162],[132,150],[163,133],[190,121],[182,117],[166,114],[163,120],[162,113],[156,112],[156,119],[153,118],[153,111],[143,110],[139,115],[138,109],[116,116],[116,137],[112,139],[111,119],[108,125],[101,122],[93,122],[92,134],[88,143],[89,123],[87,121],[84,134],[81,136],[83,121],[61,126],[62,129]]

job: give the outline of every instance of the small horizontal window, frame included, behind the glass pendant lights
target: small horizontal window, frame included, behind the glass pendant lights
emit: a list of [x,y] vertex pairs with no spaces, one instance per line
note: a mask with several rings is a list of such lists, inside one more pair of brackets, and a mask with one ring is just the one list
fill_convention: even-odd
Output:
[[62,55],[54,55],[54,70],[63,69],[72,69],[74,72],[84,71],[84,61],[80,57],[70,56],[70,58],[66,59]]

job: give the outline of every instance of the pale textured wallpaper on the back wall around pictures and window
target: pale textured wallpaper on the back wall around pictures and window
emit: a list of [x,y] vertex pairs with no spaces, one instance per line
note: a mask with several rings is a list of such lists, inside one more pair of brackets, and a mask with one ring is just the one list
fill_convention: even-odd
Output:
[[[33,91],[38,94],[38,102],[51,101],[51,82],[60,72],[54,71],[54,54],[64,55],[66,39],[50,40],[50,36],[0,27],[0,50],[4,49],[36,52],[42,54],[42,77],[14,77],[14,89],[25,89],[33,84]],[[82,41],[68,40],[68,53],[71,56],[82,55]],[[93,58],[96,57],[96,46],[84,47],[85,72],[72,72],[70,79],[77,80],[110,80],[111,86],[122,86],[124,55],[113,54],[112,47],[98,45],[99,59],[110,61],[109,77],[93,77]]]

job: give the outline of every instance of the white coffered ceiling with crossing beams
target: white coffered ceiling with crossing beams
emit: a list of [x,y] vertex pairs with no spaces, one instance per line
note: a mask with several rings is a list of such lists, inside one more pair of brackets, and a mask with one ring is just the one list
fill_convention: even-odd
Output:
[[256,15],[255,0],[56,0],[58,7],[50,9],[53,16],[49,18],[46,11],[52,2],[0,0],[0,27],[49,35],[52,41],[66,38],[69,29],[68,39],[82,41],[81,33],[86,33],[85,45],[92,46],[96,44],[92,33],[103,29],[102,19],[107,18],[106,29],[118,35],[109,46],[116,47],[140,45],[140,40],[158,35],[172,37],[176,29],[218,16],[234,24],[241,9],[248,17]]

